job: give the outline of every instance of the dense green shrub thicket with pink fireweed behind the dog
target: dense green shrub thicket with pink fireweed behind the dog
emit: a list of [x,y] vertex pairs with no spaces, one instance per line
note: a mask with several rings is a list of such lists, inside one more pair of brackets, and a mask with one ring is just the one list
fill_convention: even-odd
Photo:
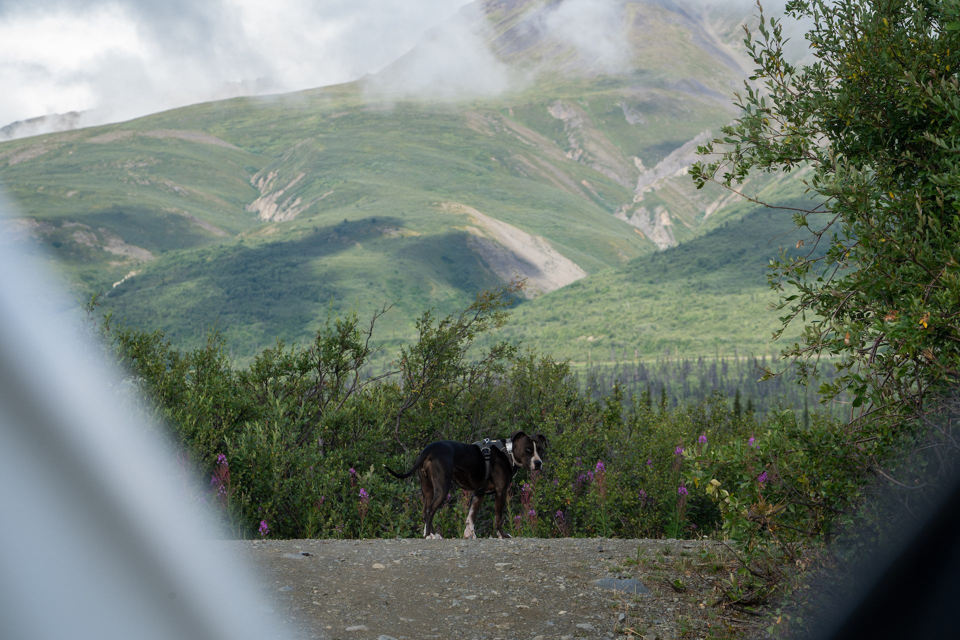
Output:
[[[424,315],[427,340],[401,351],[398,374],[370,371],[375,317],[367,329],[355,316],[331,320],[311,344],[278,343],[240,369],[215,333],[184,353],[159,333],[108,323],[108,337],[209,474],[203,497],[237,536],[419,535],[420,487],[383,465],[408,468],[436,439],[520,430],[549,445],[542,472],[518,472],[506,508],[516,534],[678,537],[718,528],[721,512],[689,489],[679,450],[755,430],[754,418],[732,414],[719,395],[673,409],[628,401],[616,386],[594,399],[566,363],[513,347],[471,355],[471,319],[493,328],[507,295],[479,296],[470,314]],[[459,535],[467,503],[454,489],[438,531]]]

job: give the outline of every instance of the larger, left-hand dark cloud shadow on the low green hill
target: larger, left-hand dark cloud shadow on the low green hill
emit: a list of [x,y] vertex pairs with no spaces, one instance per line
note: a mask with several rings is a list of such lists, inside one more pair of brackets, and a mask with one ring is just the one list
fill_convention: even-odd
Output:
[[[242,353],[290,337],[292,327],[319,325],[318,310],[339,299],[338,275],[318,275],[315,261],[379,237],[379,217],[317,227],[300,238],[266,244],[241,240],[171,253],[109,292],[107,304],[135,326],[162,329],[189,344],[217,326]],[[245,325],[249,328],[240,329]],[[241,333],[242,331],[242,333]]]

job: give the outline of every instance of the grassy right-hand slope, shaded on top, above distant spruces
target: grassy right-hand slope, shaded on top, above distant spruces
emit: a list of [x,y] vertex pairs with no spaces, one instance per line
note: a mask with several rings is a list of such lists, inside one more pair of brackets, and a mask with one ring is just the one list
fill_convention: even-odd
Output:
[[[803,201],[790,179],[759,195],[783,205]],[[776,353],[770,340],[780,314],[767,305],[778,296],[766,265],[781,248],[796,250],[800,236],[788,212],[747,201],[717,215],[705,235],[520,305],[505,334],[581,365]]]

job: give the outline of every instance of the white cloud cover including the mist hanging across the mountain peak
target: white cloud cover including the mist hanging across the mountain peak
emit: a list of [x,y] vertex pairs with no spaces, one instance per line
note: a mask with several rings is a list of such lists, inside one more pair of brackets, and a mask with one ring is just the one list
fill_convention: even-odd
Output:
[[[536,73],[508,69],[485,13],[527,12],[525,36],[571,48],[597,73],[636,62],[625,7],[636,0],[0,0],[0,139],[91,126],[241,95],[376,74],[377,94],[497,95]],[[752,2],[660,0],[729,13]],[[782,3],[779,3],[782,4]],[[769,9],[769,8],[768,8]],[[452,19],[451,19],[452,17]],[[636,43],[634,43],[636,44]],[[499,48],[498,48],[499,47]],[[409,53],[408,53],[409,52]],[[400,64],[395,63],[400,62]],[[393,64],[392,64],[393,63]],[[384,69],[386,67],[386,69]],[[58,114],[79,112],[64,120]],[[54,116],[46,117],[44,116]],[[32,120],[30,126],[23,121]]]

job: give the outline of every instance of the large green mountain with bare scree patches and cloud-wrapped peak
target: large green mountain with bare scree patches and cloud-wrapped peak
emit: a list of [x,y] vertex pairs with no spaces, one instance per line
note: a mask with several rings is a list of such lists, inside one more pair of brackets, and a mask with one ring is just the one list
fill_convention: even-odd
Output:
[[[396,306],[380,338],[405,342],[423,309],[450,311],[515,274],[529,283],[514,320],[528,343],[580,357],[593,335],[659,352],[680,337],[648,322],[632,339],[634,314],[588,290],[604,283],[617,304],[639,296],[665,313],[654,294],[674,284],[631,280],[638,265],[746,255],[743,233],[721,229],[747,209],[694,190],[685,169],[734,115],[749,12],[584,6],[475,2],[357,83],[0,144],[0,183],[23,214],[8,226],[48,248],[78,293],[106,291],[117,316],[180,346],[216,326],[241,358],[308,338],[330,311],[384,303]],[[751,242],[773,235],[744,220]],[[719,277],[697,269],[684,282]],[[734,276],[701,288],[727,316],[691,329],[707,333],[690,349],[752,336],[744,325],[714,340],[727,319],[761,313],[728,285],[745,291]],[[587,308],[612,314],[615,331],[573,320]]]

